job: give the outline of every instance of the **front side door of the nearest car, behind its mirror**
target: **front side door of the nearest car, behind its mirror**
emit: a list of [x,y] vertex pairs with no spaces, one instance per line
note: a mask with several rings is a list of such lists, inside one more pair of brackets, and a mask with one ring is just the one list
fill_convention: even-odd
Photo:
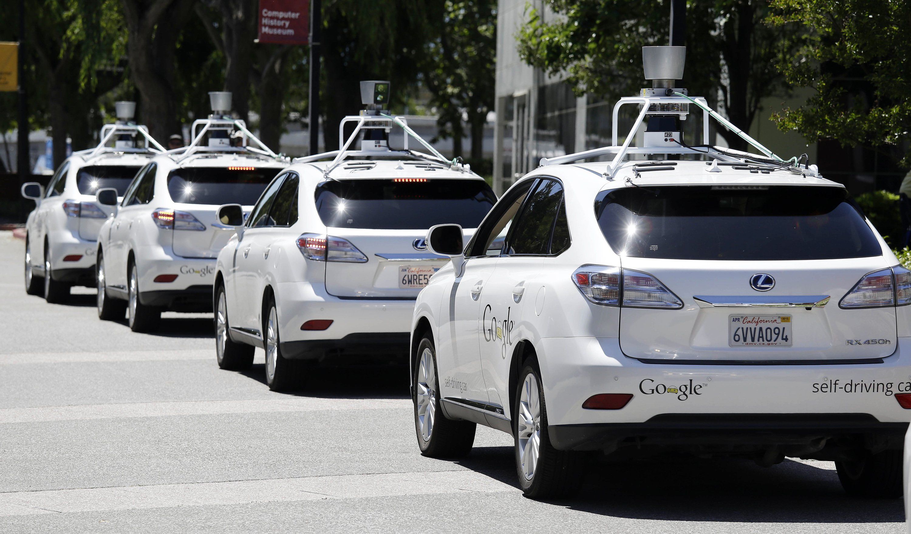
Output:
[[441,365],[441,368],[449,369],[446,376],[439,378],[444,396],[479,403],[485,409],[491,406],[478,354],[479,339],[483,338],[481,296],[499,260],[512,220],[527,195],[528,185],[530,182],[507,193],[478,228],[468,244],[462,272],[454,277],[447,308],[440,310],[443,321],[438,354],[449,360]]

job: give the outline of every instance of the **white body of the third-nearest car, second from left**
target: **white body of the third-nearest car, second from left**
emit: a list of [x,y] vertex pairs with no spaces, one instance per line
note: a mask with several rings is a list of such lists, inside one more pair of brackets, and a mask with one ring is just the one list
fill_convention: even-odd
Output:
[[[159,310],[210,311],[215,257],[233,235],[234,227],[221,225],[216,217],[222,202],[199,204],[175,199],[169,190],[169,176],[208,169],[225,173],[265,171],[270,176],[254,184],[255,195],[246,196],[256,198],[273,177],[272,173],[278,173],[285,165],[275,158],[245,152],[154,157],[130,184],[117,213],[98,232],[97,254],[102,258],[107,297],[129,298],[130,267],[136,265],[140,304]],[[231,200],[218,191],[209,194],[219,195],[222,201]],[[245,209],[251,208],[251,202],[247,200]],[[155,215],[162,212],[189,214],[193,217],[189,221],[193,228],[162,227]],[[170,218],[173,221],[173,214]]]

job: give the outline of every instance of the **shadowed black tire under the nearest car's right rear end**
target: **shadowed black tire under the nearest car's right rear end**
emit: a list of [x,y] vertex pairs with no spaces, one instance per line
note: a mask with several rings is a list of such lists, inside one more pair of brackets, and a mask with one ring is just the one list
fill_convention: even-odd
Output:
[[902,496],[901,450],[866,452],[864,458],[836,461],[835,469],[845,493],[865,499],[898,499]]

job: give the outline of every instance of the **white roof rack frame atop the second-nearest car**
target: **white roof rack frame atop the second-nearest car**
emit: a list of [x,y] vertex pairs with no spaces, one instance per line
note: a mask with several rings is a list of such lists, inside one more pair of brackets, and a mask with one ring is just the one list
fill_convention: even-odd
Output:
[[[346,140],[344,138],[344,126],[348,123],[357,123],[354,126],[354,131],[351,136],[348,136]],[[387,132],[392,130],[394,126],[402,128],[403,134],[403,149],[402,150],[390,150],[388,146],[369,146],[368,142],[363,142],[360,150],[349,150],[349,147],[352,145],[355,139],[357,139],[358,134],[361,133],[361,130],[368,129],[385,129]],[[414,137],[421,145],[425,146],[431,154],[425,154],[423,152],[418,152],[416,150],[411,150],[408,148],[408,136]],[[471,170],[471,167],[458,161],[460,158],[455,158],[452,161],[448,160],[442,154],[437,151],[433,145],[425,141],[425,139],[415,132],[415,130],[408,127],[408,123],[405,121],[404,116],[389,116],[385,114],[381,115],[359,115],[359,116],[346,116],[342,119],[342,123],[339,125],[339,146],[342,148],[339,150],[332,150],[330,152],[323,152],[322,154],[314,154],[312,156],[303,156],[295,157],[294,163],[312,163],[314,161],[321,161],[324,159],[333,158],[329,166],[326,166],[325,170],[322,171],[322,176],[329,176],[331,172],[337,167],[342,165],[342,162],[348,158],[357,158],[357,157],[373,157],[373,158],[384,158],[384,159],[416,159],[423,160],[426,162],[446,166],[452,170],[457,170],[460,172],[467,172]]]

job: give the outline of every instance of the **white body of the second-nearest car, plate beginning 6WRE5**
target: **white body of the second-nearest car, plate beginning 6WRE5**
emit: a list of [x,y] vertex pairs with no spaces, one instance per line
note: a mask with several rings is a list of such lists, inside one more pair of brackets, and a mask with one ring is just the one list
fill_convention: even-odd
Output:
[[[413,267],[415,273],[420,272],[426,279],[447,258],[428,252],[423,244],[426,229],[431,225],[384,229],[371,227],[369,223],[362,225],[354,219],[343,222],[342,226],[333,226],[331,222],[327,225],[317,207],[322,202],[317,197],[321,186],[356,189],[358,184],[366,182],[400,181],[400,186],[419,190],[434,184],[469,180],[485,188],[490,196],[493,192],[480,176],[450,170],[438,162],[344,161],[324,176],[327,166],[330,163],[323,161],[296,163],[285,168],[263,193],[245,227],[221,249],[214,283],[217,288],[224,287],[226,294],[227,336],[236,343],[264,348],[263,323],[271,297],[281,332],[281,358],[344,363],[353,357],[399,356],[404,362],[415,297],[421,287],[401,287],[402,269]],[[272,202],[272,191],[276,192],[275,205],[288,204],[289,200],[281,197],[292,192],[292,187],[282,188],[281,180],[285,179],[297,180],[292,200],[297,207],[296,221],[275,225],[272,222],[277,217],[271,215],[268,224],[258,227],[261,210]],[[495,199],[493,196],[484,212],[476,216],[476,222]],[[349,209],[359,208],[349,204]],[[466,236],[471,232],[470,228],[466,229]],[[299,245],[299,239],[308,235],[316,239],[329,236],[331,242],[339,238],[347,240],[357,249],[353,254],[360,253],[357,257],[363,261],[308,257]],[[331,323],[319,329],[306,329],[304,325],[308,321]]]

